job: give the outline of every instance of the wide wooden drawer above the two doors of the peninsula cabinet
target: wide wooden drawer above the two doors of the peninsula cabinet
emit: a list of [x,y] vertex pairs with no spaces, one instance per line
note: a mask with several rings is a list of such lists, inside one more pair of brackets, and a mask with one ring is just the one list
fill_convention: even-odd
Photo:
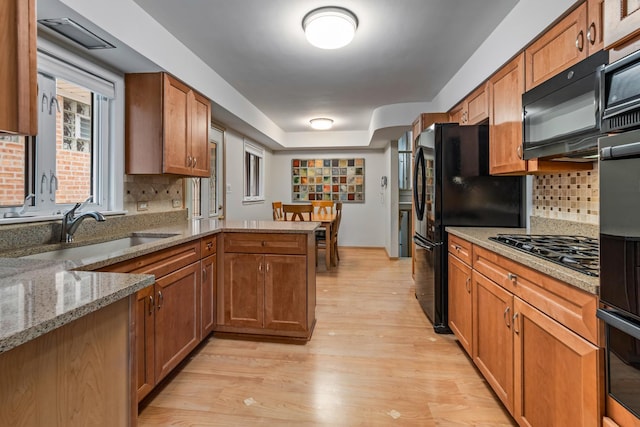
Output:
[[307,253],[307,236],[302,234],[228,233],[224,236],[225,252],[252,254]]

